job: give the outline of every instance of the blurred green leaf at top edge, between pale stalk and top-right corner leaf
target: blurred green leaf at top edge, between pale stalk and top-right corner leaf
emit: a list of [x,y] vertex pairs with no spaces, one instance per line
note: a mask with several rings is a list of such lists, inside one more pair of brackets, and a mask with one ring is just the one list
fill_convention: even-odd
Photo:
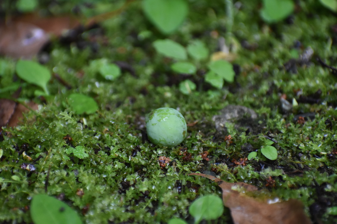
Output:
[[263,0],[261,16],[268,23],[285,19],[293,13],[295,4],[292,0]]

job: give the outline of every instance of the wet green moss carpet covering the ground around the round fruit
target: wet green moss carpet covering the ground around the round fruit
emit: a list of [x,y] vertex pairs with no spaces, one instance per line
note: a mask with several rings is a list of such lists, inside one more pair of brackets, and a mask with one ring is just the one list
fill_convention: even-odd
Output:
[[[84,49],[53,41],[46,66],[72,88],[52,79],[51,96],[34,98],[42,105],[39,112],[30,113],[23,125],[7,129],[11,134],[3,136],[1,222],[31,222],[30,200],[44,192],[63,198],[86,223],[165,223],[172,217],[190,221],[191,201],[209,193],[220,195],[220,188],[208,179],[188,176],[196,171],[267,188],[283,199],[298,198],[313,221],[336,222],[337,77],[315,60],[319,56],[336,65],[336,33],[331,29],[336,15],[318,1],[297,1],[293,16],[268,25],[258,15],[259,4],[253,2],[242,1],[240,9],[235,8],[233,63],[241,72],[221,90],[204,83],[202,76],[172,72],[170,60],[152,47],[153,41],[166,37],[144,18],[139,2],[83,33],[89,43]],[[189,5],[188,21],[168,38],[184,46],[200,39],[211,52],[217,51],[214,35],[228,36],[224,2],[189,1]],[[97,38],[90,42],[90,37]],[[294,52],[302,54],[309,46],[315,52],[311,62],[297,65],[297,73],[287,72],[283,65]],[[115,81],[104,80],[88,66],[97,58],[124,61],[134,74],[123,71]],[[15,63],[9,58],[1,61],[6,64],[0,81],[4,88],[13,80]],[[195,82],[197,91],[182,94],[178,84],[184,79]],[[32,98],[37,87],[23,85],[21,98]],[[299,100],[300,91],[307,100]],[[64,102],[74,92],[94,97],[97,113],[72,114]],[[290,101],[297,99],[298,106],[282,112],[281,94]],[[258,128],[249,132],[227,127],[232,143],[217,135],[212,121],[228,104],[252,108],[259,115]],[[179,108],[187,123],[194,124],[181,145],[165,148],[146,139],[144,117],[158,107]],[[298,122],[299,116],[305,122]],[[72,141],[64,139],[67,135]],[[245,166],[232,162],[260,149],[264,135],[277,142],[276,161],[258,151]],[[89,156],[66,154],[70,146],[84,146]],[[209,161],[202,157],[204,151]],[[27,161],[23,152],[33,161]],[[158,162],[161,155],[172,160],[163,169]],[[22,169],[23,163],[36,170]],[[275,183],[268,184],[271,180]],[[214,223],[230,220],[225,210]]]

